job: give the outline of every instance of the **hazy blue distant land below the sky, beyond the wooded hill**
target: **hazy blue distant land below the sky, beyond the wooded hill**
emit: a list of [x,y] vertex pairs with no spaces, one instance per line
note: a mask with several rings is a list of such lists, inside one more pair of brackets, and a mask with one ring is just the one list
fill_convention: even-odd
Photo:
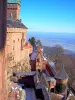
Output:
[[[53,47],[60,45],[65,49],[65,53],[75,53],[75,34],[74,33],[54,33],[54,32],[28,32],[27,39],[35,37],[44,46]],[[72,51],[72,52],[71,52]]]

